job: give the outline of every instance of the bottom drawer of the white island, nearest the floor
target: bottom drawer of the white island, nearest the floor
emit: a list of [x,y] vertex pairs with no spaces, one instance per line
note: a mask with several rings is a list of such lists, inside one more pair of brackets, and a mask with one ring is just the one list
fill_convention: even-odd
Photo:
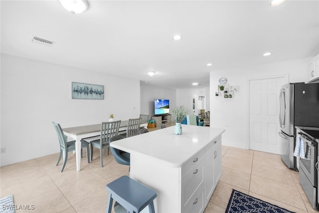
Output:
[[204,211],[204,184],[198,188],[198,190],[191,197],[188,206],[186,207],[186,211],[182,211],[184,213],[201,213]]

